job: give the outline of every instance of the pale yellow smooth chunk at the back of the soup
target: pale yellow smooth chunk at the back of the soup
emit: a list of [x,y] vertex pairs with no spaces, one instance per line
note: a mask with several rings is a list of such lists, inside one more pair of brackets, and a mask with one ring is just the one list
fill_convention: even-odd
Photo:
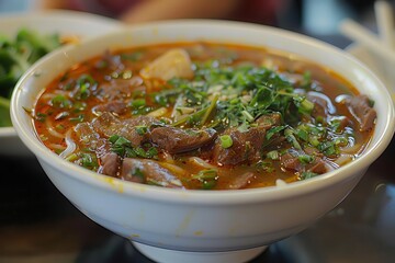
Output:
[[184,49],[174,48],[165,53],[140,70],[143,78],[170,80],[172,78],[192,78],[192,62]]

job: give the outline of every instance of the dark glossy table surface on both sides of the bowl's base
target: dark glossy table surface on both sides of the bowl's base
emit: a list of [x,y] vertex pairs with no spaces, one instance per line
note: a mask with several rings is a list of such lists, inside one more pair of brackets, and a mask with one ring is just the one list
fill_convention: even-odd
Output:
[[[395,262],[394,155],[395,139],[337,208],[252,263]],[[35,159],[0,157],[0,262],[151,262],[77,210]]]

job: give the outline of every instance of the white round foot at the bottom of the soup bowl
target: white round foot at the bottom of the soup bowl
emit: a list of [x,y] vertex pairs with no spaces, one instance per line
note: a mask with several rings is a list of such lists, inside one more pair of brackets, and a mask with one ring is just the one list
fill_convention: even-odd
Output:
[[241,263],[248,262],[262,253],[268,247],[226,252],[188,252],[167,250],[147,244],[133,242],[133,245],[145,256],[159,263]]

